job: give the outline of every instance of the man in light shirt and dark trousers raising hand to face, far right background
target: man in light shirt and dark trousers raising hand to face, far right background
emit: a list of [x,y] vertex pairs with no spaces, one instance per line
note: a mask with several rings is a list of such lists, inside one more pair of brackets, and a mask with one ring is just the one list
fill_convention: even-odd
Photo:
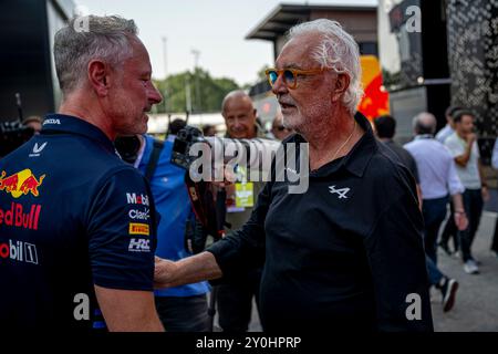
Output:
[[457,174],[465,187],[464,208],[468,217],[468,228],[459,232],[464,270],[469,274],[479,273],[471,254],[471,244],[479,227],[484,200],[488,198],[486,181],[483,178],[477,137],[474,134],[474,114],[458,111],[454,114],[455,133],[448,136],[448,147],[457,166]]

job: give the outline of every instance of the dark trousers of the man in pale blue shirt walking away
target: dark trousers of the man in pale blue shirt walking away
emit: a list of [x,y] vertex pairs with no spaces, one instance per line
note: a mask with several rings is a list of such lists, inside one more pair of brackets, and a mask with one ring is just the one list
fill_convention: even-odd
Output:
[[435,264],[437,263],[437,235],[446,217],[447,204],[448,197],[424,199],[422,202],[425,253]]

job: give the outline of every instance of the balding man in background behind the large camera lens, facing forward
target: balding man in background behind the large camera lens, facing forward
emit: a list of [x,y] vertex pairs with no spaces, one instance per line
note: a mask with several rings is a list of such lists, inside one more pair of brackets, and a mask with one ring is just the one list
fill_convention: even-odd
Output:
[[[232,91],[225,96],[221,114],[227,125],[227,137],[235,139],[264,137],[256,122],[252,101],[243,91]],[[256,200],[264,184],[247,181],[248,174],[249,171],[239,168],[237,184],[243,186],[243,190],[249,190],[252,200]],[[241,202],[240,198],[237,198],[236,185],[227,187],[227,222],[231,230],[240,229],[249,220],[253,208],[253,204],[247,204],[243,200]],[[260,281],[261,268],[253,268],[239,277],[237,281],[218,287],[219,325],[224,332],[246,332],[248,330],[251,321],[252,296],[256,296],[257,304],[259,302]]]

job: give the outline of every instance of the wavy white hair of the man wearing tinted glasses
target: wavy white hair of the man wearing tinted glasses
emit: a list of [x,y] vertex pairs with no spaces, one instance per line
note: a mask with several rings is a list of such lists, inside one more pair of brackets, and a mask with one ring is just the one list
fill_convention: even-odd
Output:
[[289,40],[309,33],[319,33],[321,43],[312,51],[311,56],[322,67],[333,69],[338,73],[350,76],[350,86],[342,97],[343,104],[354,114],[363,97],[362,67],[360,50],[353,37],[344,31],[336,21],[319,19],[304,22],[290,29]]

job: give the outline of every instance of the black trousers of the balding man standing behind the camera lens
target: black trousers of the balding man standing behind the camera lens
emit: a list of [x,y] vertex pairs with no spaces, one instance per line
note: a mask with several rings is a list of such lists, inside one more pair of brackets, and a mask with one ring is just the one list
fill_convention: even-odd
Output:
[[243,281],[218,285],[218,321],[224,332],[247,332],[251,322],[252,296],[256,296],[256,304],[259,304],[260,282],[261,271],[258,270],[247,274]]

